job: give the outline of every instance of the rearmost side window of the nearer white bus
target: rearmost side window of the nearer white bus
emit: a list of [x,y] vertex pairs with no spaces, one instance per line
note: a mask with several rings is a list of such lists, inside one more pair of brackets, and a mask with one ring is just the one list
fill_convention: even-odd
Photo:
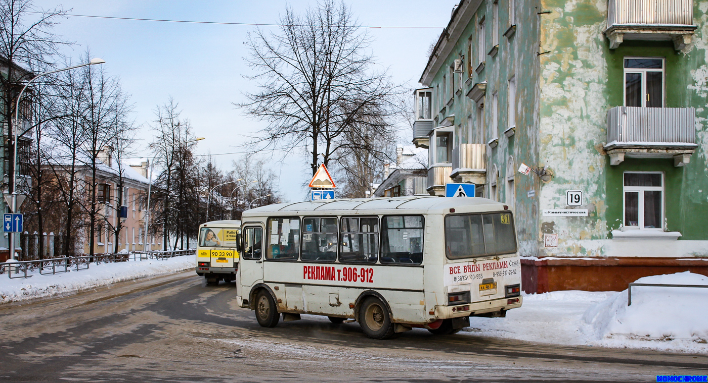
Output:
[[386,216],[381,220],[381,263],[423,262],[423,216]]

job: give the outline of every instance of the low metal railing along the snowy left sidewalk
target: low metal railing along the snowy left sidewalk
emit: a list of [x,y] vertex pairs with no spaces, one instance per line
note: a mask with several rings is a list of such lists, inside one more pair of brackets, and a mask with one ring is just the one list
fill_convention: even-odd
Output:
[[4,262],[0,264],[0,274],[6,273],[9,278],[28,278],[33,272],[42,275],[66,273],[89,269],[91,264],[110,264],[114,262],[144,261],[148,259],[169,259],[181,255],[195,254],[195,249],[166,250],[156,252],[132,252],[82,255],[79,257],[62,257],[52,259],[39,259],[33,261]]

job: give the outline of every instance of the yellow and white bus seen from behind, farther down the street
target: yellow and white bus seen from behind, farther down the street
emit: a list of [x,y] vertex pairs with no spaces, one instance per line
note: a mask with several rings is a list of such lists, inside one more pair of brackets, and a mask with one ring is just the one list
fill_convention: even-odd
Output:
[[236,279],[240,240],[240,220],[212,220],[199,226],[196,271],[198,276],[204,276],[207,285]]

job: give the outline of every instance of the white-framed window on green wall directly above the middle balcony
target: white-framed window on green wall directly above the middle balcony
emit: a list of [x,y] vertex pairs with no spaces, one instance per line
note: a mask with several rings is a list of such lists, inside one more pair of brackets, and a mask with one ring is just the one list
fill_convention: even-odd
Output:
[[663,58],[624,58],[624,106],[663,107]]

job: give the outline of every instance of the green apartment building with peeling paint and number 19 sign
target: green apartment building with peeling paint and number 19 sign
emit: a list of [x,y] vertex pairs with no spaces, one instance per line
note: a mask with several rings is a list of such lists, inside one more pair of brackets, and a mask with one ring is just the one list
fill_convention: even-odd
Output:
[[506,201],[527,291],[708,275],[707,19],[707,0],[460,1],[416,90],[428,192]]

